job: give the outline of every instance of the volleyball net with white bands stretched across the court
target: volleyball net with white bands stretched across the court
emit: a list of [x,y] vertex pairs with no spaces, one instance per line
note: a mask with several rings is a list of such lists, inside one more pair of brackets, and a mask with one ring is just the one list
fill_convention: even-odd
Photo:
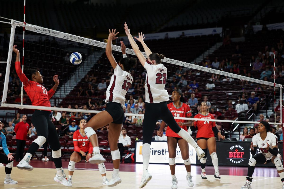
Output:
[[[105,55],[106,43],[15,20],[7,24],[11,24],[11,35],[1,107],[91,114],[104,110],[106,88],[114,74]],[[50,99],[51,107],[32,106],[16,75],[12,47],[16,44],[22,56],[23,27],[24,58],[20,58],[24,64],[23,72],[25,73],[27,68],[40,71],[44,77],[43,86],[47,90],[54,85],[53,75],[59,75],[60,85]],[[127,37],[124,39],[127,40]],[[121,37],[112,45],[116,61],[122,58],[120,40]],[[128,40],[124,43],[130,47]],[[145,39],[145,43],[155,52],[154,43],[162,42]],[[142,50],[142,46],[138,45]],[[178,53],[178,50],[172,51],[171,53]],[[83,61],[80,65],[70,63],[69,56],[73,52],[82,54]],[[126,53],[128,57],[137,58],[131,48],[126,48]],[[169,56],[171,53],[168,52]],[[143,55],[146,57],[144,52]],[[171,58],[164,58],[162,61],[168,69],[166,90],[169,93],[169,102],[172,102],[172,92],[179,90],[182,93],[181,101],[190,105],[193,115],[199,112],[201,102],[205,101],[217,122],[255,124],[258,123],[258,115],[264,114],[270,124],[282,124],[282,111],[277,111],[276,106],[280,105],[282,108],[279,102],[282,101],[283,86],[270,82],[269,78],[261,78],[261,73],[248,70],[250,77],[246,77],[241,68],[222,71]],[[237,69],[240,69],[240,73],[234,73]],[[131,70],[131,74],[134,79],[126,95],[126,115],[143,117],[146,71],[139,61],[137,67]],[[231,111],[232,109],[236,112]],[[181,117],[178,119],[201,120]],[[234,125],[235,128],[238,126]]]

